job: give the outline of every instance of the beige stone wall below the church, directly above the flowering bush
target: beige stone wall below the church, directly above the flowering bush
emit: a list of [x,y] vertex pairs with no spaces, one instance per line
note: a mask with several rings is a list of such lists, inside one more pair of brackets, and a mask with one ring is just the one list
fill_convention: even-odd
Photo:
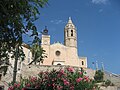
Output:
[[[23,68],[21,70],[21,74],[22,76],[31,76],[31,75],[37,75],[40,71],[46,71],[46,70],[52,70],[52,69],[63,69],[66,66],[58,66],[58,65],[32,65],[32,66],[26,66],[23,65]],[[74,66],[75,69],[79,69],[81,70],[80,67],[76,67]],[[94,75],[95,75],[95,71],[89,68],[83,68],[85,72],[87,72],[86,76],[89,76],[90,78],[93,79]]]

